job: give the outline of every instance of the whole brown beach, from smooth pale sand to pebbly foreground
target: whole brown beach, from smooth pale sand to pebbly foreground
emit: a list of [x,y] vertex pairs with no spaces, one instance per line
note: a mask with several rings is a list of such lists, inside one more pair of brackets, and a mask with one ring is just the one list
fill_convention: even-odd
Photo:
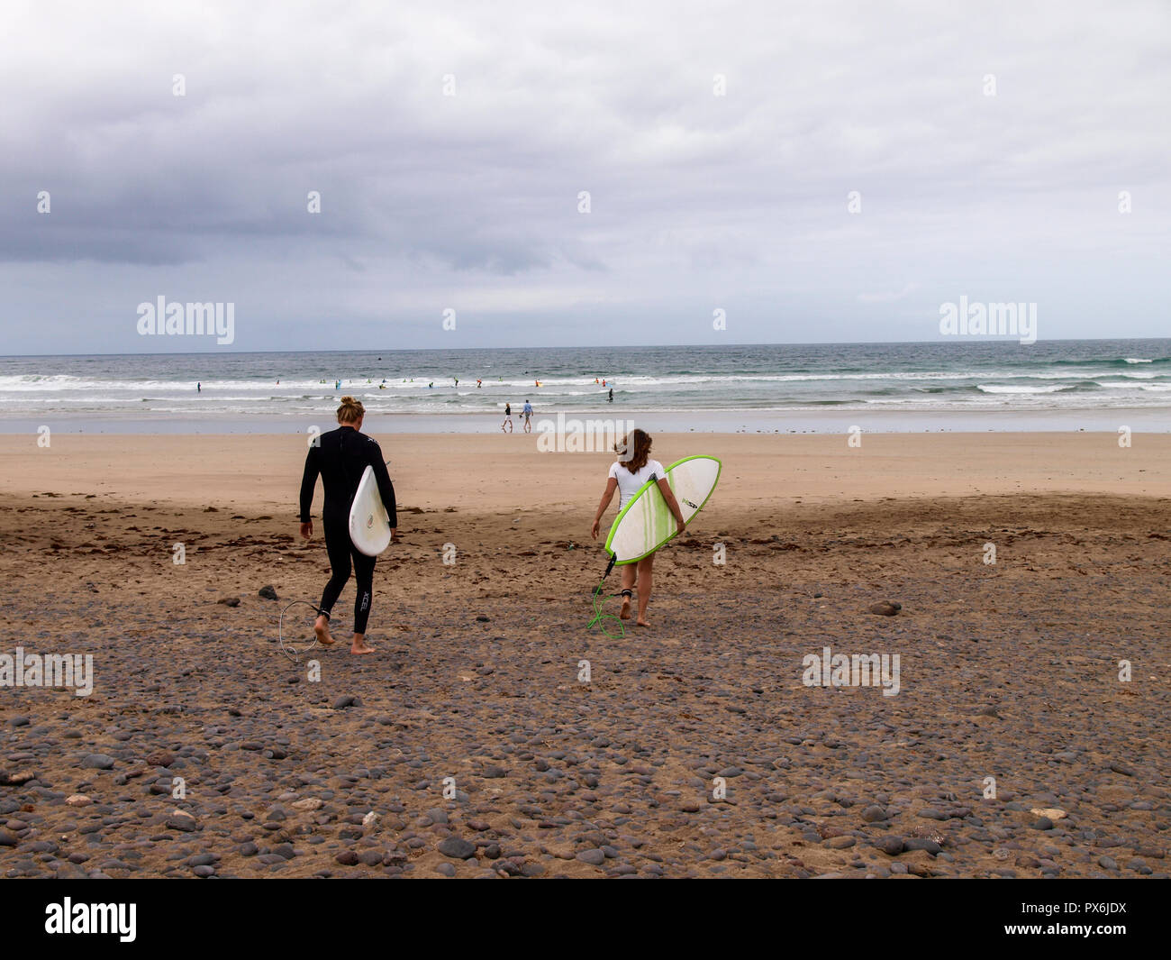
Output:
[[0,688],[4,876],[1167,876],[1171,435],[656,435],[724,474],[622,639],[612,455],[376,436],[377,653],[296,661],[303,435],[0,436],[0,654],[94,665]]

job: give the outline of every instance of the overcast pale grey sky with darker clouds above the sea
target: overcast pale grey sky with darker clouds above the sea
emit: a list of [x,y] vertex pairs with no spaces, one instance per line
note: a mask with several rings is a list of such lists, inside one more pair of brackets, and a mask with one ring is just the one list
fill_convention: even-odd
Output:
[[5,0],[0,353],[1165,336],[1169,128],[1166,0]]

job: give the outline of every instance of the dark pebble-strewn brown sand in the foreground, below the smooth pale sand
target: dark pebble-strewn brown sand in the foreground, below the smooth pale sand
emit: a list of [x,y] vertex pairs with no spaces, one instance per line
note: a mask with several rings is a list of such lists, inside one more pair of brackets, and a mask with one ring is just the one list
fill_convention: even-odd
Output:
[[[348,653],[348,593],[340,644],[296,663],[275,640],[283,605],[260,602],[247,585],[313,597],[328,576],[320,539],[302,543],[295,527],[244,508],[249,516],[233,519],[234,506],[204,515],[160,503],[155,513],[62,499],[42,526],[94,523],[84,536],[103,547],[101,561],[67,559],[62,540],[35,605],[13,580],[12,622],[32,625],[27,648],[35,638],[95,653],[101,683],[84,700],[21,690],[29,721],[0,724],[0,876],[1167,872],[1162,700],[1149,681],[1102,687],[1098,676],[1119,655],[1119,624],[1135,662],[1165,653],[1157,574],[1166,542],[1146,536],[1171,519],[1158,499],[1142,510],[1089,495],[1063,510],[1033,495],[830,509],[810,497],[785,508],[773,540],[752,526],[781,513],[748,523],[718,498],[711,509],[730,510],[737,565],[704,560],[712,544],[700,527],[677,538],[660,560],[653,655],[583,631],[573,612],[582,597],[563,592],[581,580],[583,559],[562,556],[568,513],[541,515],[548,533],[528,519],[523,532],[507,531],[532,547],[526,558],[499,539],[511,516],[498,530],[487,515],[403,509],[416,530],[379,560],[377,653]],[[61,511],[74,504],[90,512]],[[40,501],[22,506],[8,512],[20,535],[0,556],[9,578],[40,568]],[[138,517],[98,512],[115,509]],[[979,564],[970,547],[989,539],[1011,544],[1011,563]],[[179,540],[198,550],[159,574],[169,557],[159,545]],[[460,545],[456,567],[432,563],[432,547],[448,540]],[[118,577],[102,580],[114,558]],[[70,571],[85,563],[83,579]],[[513,590],[505,565],[530,588]],[[224,571],[237,580],[221,583]],[[720,592],[725,573],[733,578]],[[165,595],[149,579],[157,574]],[[400,591],[396,577],[408,576]],[[239,606],[208,615],[228,591]],[[879,591],[910,612],[860,622]],[[491,624],[475,619],[486,605]],[[308,639],[313,615],[302,610],[296,631]],[[111,624],[117,644],[101,640]],[[860,635],[863,624],[875,633]],[[898,696],[806,687],[802,658],[823,645],[902,654]],[[582,659],[589,683],[577,680]],[[1022,675],[1029,683],[1012,680]],[[340,706],[345,697],[368,708]],[[90,755],[111,765],[83,767]],[[980,779],[993,774],[997,796],[982,798]],[[713,795],[715,777],[726,799]],[[75,795],[93,802],[73,805]],[[1052,829],[1035,829],[1042,815]],[[454,856],[440,850],[452,838],[467,844]]]

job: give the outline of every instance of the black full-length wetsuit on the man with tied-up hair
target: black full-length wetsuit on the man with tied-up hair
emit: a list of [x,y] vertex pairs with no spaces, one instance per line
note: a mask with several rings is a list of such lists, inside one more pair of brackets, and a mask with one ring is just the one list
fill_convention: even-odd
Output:
[[301,479],[301,523],[309,523],[309,511],[313,508],[313,490],[321,475],[326,488],[326,502],[321,511],[326,533],[326,551],[329,553],[329,566],[334,571],[326,591],[321,594],[321,611],[329,615],[337,602],[337,597],[350,579],[350,560],[354,561],[354,576],[357,581],[357,597],[354,598],[354,632],[365,633],[367,619],[370,617],[370,600],[374,593],[374,557],[359,552],[350,540],[350,504],[357,492],[358,483],[367,467],[374,468],[378,482],[378,495],[390,516],[390,526],[398,526],[398,515],[395,511],[395,486],[382,459],[382,448],[377,441],[359,434],[352,427],[338,427],[322,434],[317,444],[309,448],[304,458],[304,476]]

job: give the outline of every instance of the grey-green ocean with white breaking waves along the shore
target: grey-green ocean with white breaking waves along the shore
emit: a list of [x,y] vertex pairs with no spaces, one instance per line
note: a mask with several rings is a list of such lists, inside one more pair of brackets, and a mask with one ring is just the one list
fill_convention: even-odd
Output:
[[301,431],[343,394],[429,433],[526,400],[672,430],[1167,431],[1171,339],[12,356],[0,431]]

